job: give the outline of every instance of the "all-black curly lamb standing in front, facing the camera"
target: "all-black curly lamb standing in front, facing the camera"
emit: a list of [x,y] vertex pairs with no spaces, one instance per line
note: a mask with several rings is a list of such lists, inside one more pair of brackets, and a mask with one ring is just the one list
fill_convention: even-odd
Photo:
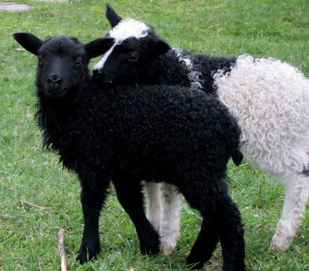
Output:
[[43,146],[81,182],[85,228],[77,260],[99,254],[98,221],[110,180],[142,253],[159,253],[141,181],[165,181],[203,216],[187,264],[201,268],[220,239],[223,270],[245,270],[241,215],[224,182],[229,158],[237,165],[243,158],[240,128],[228,108],[212,94],[182,86],[97,87],[87,65],[109,51],[114,38],[83,44],[68,36],[13,36],[38,57],[35,118]]

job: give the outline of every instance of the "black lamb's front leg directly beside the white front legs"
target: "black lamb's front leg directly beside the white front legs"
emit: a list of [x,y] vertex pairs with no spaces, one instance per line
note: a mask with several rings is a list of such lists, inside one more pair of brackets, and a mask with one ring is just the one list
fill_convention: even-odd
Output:
[[142,186],[136,181],[114,180],[118,200],[130,216],[140,240],[140,250],[143,254],[154,255],[160,252],[159,234],[146,218],[143,204]]

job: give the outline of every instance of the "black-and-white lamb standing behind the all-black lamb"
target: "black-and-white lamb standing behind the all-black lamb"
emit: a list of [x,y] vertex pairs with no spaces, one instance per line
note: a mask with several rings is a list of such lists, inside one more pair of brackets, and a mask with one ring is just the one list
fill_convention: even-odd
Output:
[[[186,50],[170,50],[152,27],[132,19],[122,20],[109,5],[106,7],[106,17],[113,27],[107,36],[117,38],[121,33],[124,41],[95,65],[97,83],[184,85],[216,95],[239,119],[245,160],[286,188],[270,248],[287,249],[308,200],[309,80],[291,65],[271,58],[195,56]],[[153,46],[161,51],[153,54]],[[162,213],[159,185],[145,186],[147,217],[160,231],[161,250],[170,254],[179,238],[181,196],[172,186],[162,184]]]

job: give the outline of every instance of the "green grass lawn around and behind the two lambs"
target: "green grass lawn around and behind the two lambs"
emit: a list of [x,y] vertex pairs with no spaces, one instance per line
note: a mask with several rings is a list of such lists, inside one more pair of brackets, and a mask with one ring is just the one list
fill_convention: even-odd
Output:
[[[19,0],[29,12],[0,12],[0,270],[60,270],[56,234],[66,230],[68,270],[188,270],[185,257],[199,232],[198,212],[181,209],[181,239],[170,258],[148,258],[139,251],[133,224],[111,189],[100,218],[102,252],[94,263],[75,262],[83,216],[76,175],[62,171],[57,157],[42,152],[33,123],[36,57],[20,48],[12,34],[40,38],[74,35],[88,42],[110,29],[104,1],[47,3]],[[309,73],[308,0],[110,1],[124,18],[155,27],[175,48],[220,56],[248,53],[272,56]],[[95,63],[94,60],[91,64]],[[280,218],[284,189],[249,165],[229,166],[230,194],[243,215],[248,270],[308,270],[309,215],[290,249],[268,250]],[[51,210],[36,210],[23,201]],[[205,270],[220,270],[218,247]]]

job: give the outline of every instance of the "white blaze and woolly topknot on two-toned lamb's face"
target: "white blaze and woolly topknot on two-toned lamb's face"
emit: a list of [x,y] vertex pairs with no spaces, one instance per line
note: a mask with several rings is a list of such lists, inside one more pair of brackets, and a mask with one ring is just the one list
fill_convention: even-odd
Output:
[[145,37],[148,35],[148,29],[150,27],[145,25],[143,22],[139,22],[130,18],[125,18],[121,20],[118,25],[116,25],[109,32],[109,37],[115,38],[114,45],[108,50],[104,55],[102,55],[100,61],[94,66],[94,70],[100,70],[103,68],[105,61],[111,54],[116,45],[121,44],[127,38],[135,37],[137,39]]

